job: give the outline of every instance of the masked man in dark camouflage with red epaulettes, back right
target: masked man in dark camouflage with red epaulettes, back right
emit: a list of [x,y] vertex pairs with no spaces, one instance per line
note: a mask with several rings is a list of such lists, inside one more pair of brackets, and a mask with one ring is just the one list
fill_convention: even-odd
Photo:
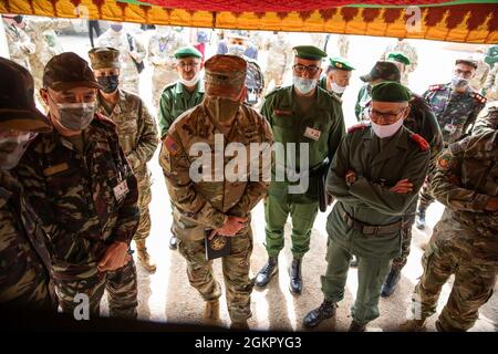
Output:
[[[432,106],[443,133],[445,147],[458,142],[471,128],[477,115],[484,108],[486,98],[473,91],[468,81],[475,75],[477,63],[468,59],[455,62],[454,77],[445,85],[432,85],[424,93],[424,98]],[[434,201],[430,195],[432,175],[422,188],[416,225],[425,228],[425,211]]]

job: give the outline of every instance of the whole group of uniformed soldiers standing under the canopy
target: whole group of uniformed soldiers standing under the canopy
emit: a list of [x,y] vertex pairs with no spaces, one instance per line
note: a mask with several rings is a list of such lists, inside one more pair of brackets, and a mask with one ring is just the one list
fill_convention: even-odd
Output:
[[[498,270],[498,106],[484,108],[486,98],[470,88],[474,60],[457,60],[448,84],[419,96],[402,83],[412,61],[387,53],[361,77],[360,124],[346,132],[340,96],[354,67],[343,58],[326,59],[314,45],[292,48],[292,84],[260,100],[262,87],[253,92],[251,83],[263,86],[262,75],[246,53],[243,33],[228,35],[227,53],[203,67],[201,52],[191,45],[173,50],[167,43],[174,34],[165,31],[157,39],[164,40],[163,51],[151,61],[172,65],[175,77],[158,98],[157,129],[133,93],[137,83],[125,73],[138,72],[145,53],[120,25],[112,24],[89,52],[91,66],[71,52],[48,61],[38,91],[46,114],[35,107],[35,84],[24,65],[0,59],[6,79],[0,84],[1,303],[49,311],[59,305],[72,313],[75,299],[85,294],[91,314],[98,315],[106,290],[112,316],[137,316],[131,241],[153,272],[145,244],[151,231],[146,164],[160,143],[173,210],[170,248],[185,258],[207,324],[219,321],[221,287],[206,248],[229,242],[221,257],[228,313],[232,329],[247,330],[253,287],[267,287],[279,271],[289,216],[289,290],[299,295],[314,220],[335,201],[326,221],[323,302],[303,325],[314,327],[335,315],[354,257],[359,288],[350,331],[365,331],[380,316],[380,296],[396,289],[412,226],[425,227],[425,200],[437,198],[446,209],[425,248],[415,316],[402,330],[425,326],[450,274],[454,290],[437,329],[474,325]],[[113,45],[117,41],[127,48]],[[129,59],[125,51],[133,53]],[[156,75],[164,80],[164,73]],[[256,156],[238,150],[237,157],[247,154],[243,160],[259,163],[248,164],[250,171],[237,180],[225,178],[232,143],[263,147]],[[284,147],[283,156],[271,149],[276,144]],[[193,153],[199,145],[200,156]],[[200,160],[215,166],[203,163],[201,178],[194,178]],[[281,171],[283,180],[277,178]],[[304,180],[307,187],[298,188]],[[251,279],[251,210],[261,200],[268,261]]]

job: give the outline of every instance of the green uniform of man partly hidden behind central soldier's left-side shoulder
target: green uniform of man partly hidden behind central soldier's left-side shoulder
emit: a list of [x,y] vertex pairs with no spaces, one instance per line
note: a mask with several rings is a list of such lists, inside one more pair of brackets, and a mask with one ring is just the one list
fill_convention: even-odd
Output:
[[167,85],[159,101],[159,133],[164,138],[173,122],[184,112],[203,102],[204,82],[199,80],[196,90],[189,92],[180,82]]

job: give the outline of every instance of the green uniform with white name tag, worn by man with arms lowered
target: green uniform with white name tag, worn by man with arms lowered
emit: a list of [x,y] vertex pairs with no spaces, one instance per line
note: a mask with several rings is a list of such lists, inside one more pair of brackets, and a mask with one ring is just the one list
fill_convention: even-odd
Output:
[[[283,227],[290,214],[292,218],[292,253],[301,259],[310,248],[310,235],[318,214],[318,180],[313,170],[323,167],[332,157],[344,135],[344,119],[340,100],[318,87],[315,103],[304,113],[295,102],[293,86],[277,88],[266,96],[261,113],[273,129],[276,143],[297,144],[295,167],[299,169],[300,144],[309,144],[309,187],[305,192],[290,194],[289,181],[277,181],[274,167],[288,169],[283,162],[276,162],[272,181],[264,201],[266,243],[270,257],[283,249]],[[314,136],[310,133],[317,133]],[[312,137],[311,137],[312,136]],[[279,165],[279,166],[277,166]],[[299,183],[299,181],[298,181]]]

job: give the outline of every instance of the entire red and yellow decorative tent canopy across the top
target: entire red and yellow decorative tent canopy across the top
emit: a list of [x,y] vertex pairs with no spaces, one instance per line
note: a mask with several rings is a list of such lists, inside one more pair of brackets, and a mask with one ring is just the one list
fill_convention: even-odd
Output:
[[0,12],[199,28],[498,43],[498,0],[357,1],[0,0]]

